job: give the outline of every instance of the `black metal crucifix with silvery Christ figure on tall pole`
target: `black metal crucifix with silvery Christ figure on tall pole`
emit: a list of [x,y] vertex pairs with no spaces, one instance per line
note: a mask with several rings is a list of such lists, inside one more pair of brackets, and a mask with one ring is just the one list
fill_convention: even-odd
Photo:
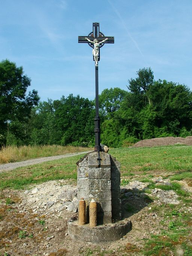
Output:
[[78,36],[78,43],[88,43],[93,48],[93,60],[95,61],[95,99],[96,99],[96,116],[95,116],[95,151],[98,152],[99,166],[101,165],[100,153],[100,118],[99,118],[99,83],[98,83],[98,61],[100,60],[100,48],[104,44],[114,44],[113,36],[105,36],[99,30],[99,23],[93,23],[93,31],[88,36]]

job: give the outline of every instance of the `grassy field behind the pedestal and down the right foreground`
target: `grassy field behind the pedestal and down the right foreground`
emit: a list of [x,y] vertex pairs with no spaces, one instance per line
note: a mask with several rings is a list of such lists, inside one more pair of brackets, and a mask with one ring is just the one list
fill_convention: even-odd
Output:
[[[139,200],[138,197],[141,195],[142,202],[147,203],[147,207],[135,209],[132,203],[126,206],[127,214],[132,221],[134,220],[132,229],[134,230],[137,222],[144,222],[146,218],[153,221],[154,217],[156,224],[150,222],[147,224],[150,224],[151,228],[157,225],[155,230],[158,232],[151,233],[147,238],[136,237],[135,241],[139,241],[139,244],[143,245],[142,248],[131,244],[127,234],[128,242],[118,246],[115,250],[117,254],[107,249],[101,251],[98,247],[86,248],[83,255],[192,256],[192,193],[184,190],[180,183],[182,181],[188,184],[188,187],[192,187],[191,152],[192,146],[184,145],[111,149],[110,154],[121,163],[121,185],[135,180],[146,183],[146,188],[137,191],[135,198]],[[76,182],[76,162],[81,157],[83,155],[0,173],[0,190],[26,189],[31,184],[57,179],[70,179]],[[163,180],[168,180],[170,184],[156,183],[155,179],[158,176],[162,176]],[[152,194],[154,188],[173,190],[179,196],[180,203],[178,205],[157,203],[158,199]],[[148,196],[142,197],[143,192]],[[141,226],[145,225],[141,224]],[[150,232],[150,226],[146,227],[146,232]],[[87,252],[89,253],[86,254]]]

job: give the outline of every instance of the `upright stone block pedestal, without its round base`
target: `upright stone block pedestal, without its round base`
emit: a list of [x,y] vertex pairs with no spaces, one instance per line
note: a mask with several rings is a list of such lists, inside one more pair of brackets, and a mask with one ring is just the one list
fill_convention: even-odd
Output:
[[120,163],[110,154],[88,153],[77,166],[78,199],[86,200],[86,216],[89,222],[89,203],[92,198],[97,203],[97,223],[106,224],[121,219]]

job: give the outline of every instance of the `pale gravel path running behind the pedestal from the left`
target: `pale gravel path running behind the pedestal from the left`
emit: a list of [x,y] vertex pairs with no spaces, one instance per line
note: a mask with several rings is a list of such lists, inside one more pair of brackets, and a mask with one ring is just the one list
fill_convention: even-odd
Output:
[[16,169],[18,167],[24,167],[32,164],[40,164],[43,162],[48,162],[52,160],[57,160],[60,158],[65,158],[65,157],[74,157],[75,155],[81,155],[81,154],[87,154],[91,151],[84,151],[84,152],[78,152],[78,153],[71,153],[71,154],[66,154],[66,155],[55,155],[53,157],[41,157],[41,158],[35,158],[35,159],[30,159],[22,162],[16,162],[16,163],[8,163],[8,164],[0,164],[0,173],[1,172],[6,172],[9,170]]

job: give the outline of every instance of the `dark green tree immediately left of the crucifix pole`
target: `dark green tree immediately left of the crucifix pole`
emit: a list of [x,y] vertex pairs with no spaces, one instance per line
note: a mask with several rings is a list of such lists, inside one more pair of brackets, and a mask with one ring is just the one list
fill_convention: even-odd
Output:
[[60,140],[62,145],[71,143],[80,145],[94,138],[93,109],[93,102],[79,95],[70,94],[67,98],[63,96],[60,104],[57,102],[55,117],[58,129],[62,133]]

